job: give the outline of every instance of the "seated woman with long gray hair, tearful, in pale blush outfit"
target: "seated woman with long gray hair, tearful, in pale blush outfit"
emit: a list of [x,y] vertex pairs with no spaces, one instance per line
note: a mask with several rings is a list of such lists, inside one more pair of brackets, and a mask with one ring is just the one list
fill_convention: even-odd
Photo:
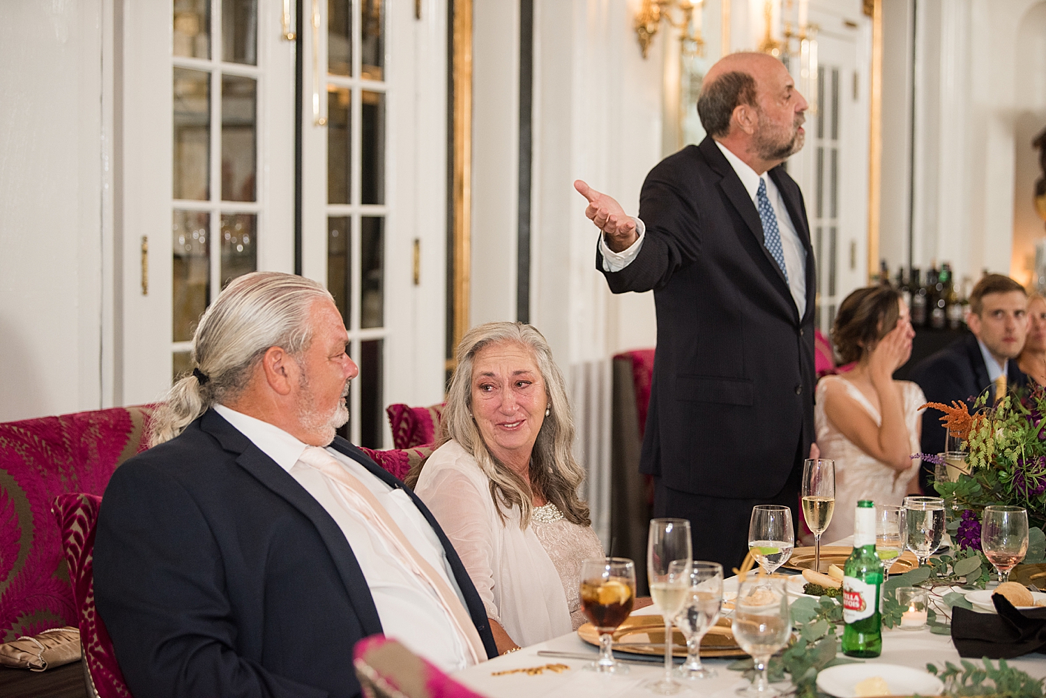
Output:
[[584,623],[581,564],[602,556],[563,374],[529,324],[487,322],[457,348],[442,444],[415,493],[461,557],[504,653]]

